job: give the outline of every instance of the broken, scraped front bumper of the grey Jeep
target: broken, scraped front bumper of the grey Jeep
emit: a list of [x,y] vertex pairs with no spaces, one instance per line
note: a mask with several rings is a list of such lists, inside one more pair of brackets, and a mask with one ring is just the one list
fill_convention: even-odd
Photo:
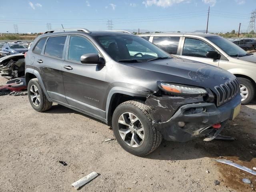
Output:
[[[146,104],[150,106],[153,125],[165,140],[186,142],[209,134],[217,136],[228,120],[232,120],[234,109],[241,103],[237,94],[226,104],[216,107],[204,102],[202,97],[175,97],[150,95]],[[219,130],[212,128],[222,124]]]

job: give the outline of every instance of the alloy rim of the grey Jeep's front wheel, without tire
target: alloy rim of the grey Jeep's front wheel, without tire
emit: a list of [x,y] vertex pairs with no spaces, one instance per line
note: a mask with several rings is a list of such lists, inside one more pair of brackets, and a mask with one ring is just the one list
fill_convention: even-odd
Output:
[[130,147],[138,147],[144,141],[144,127],[139,118],[130,112],[123,113],[118,118],[118,132]]

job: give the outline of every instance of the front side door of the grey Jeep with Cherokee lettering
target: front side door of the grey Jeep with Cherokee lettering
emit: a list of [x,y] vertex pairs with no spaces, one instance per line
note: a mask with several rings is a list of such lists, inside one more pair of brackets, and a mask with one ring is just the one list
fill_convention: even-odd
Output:
[[98,64],[82,64],[83,54],[99,53],[83,36],[70,36],[63,62],[63,82],[68,104],[105,118],[106,67]]

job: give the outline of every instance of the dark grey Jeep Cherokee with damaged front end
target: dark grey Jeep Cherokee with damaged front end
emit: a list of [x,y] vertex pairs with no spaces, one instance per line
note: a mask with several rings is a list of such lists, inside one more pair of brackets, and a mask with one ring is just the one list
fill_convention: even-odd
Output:
[[132,34],[68,30],[40,35],[27,52],[28,99],[39,112],[56,102],[92,116],[145,156],[162,138],[212,140],[240,111],[239,82],[226,70]]

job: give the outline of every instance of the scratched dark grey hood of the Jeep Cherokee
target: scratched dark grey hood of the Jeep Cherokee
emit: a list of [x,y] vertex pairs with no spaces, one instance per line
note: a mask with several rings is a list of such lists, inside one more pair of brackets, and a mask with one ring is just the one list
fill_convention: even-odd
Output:
[[150,71],[144,73],[148,75],[141,78],[148,78],[148,81],[151,82],[160,80],[210,88],[211,90],[214,90],[215,86],[220,86],[220,84],[236,78],[224,69],[182,58],[170,58],[127,65]]

